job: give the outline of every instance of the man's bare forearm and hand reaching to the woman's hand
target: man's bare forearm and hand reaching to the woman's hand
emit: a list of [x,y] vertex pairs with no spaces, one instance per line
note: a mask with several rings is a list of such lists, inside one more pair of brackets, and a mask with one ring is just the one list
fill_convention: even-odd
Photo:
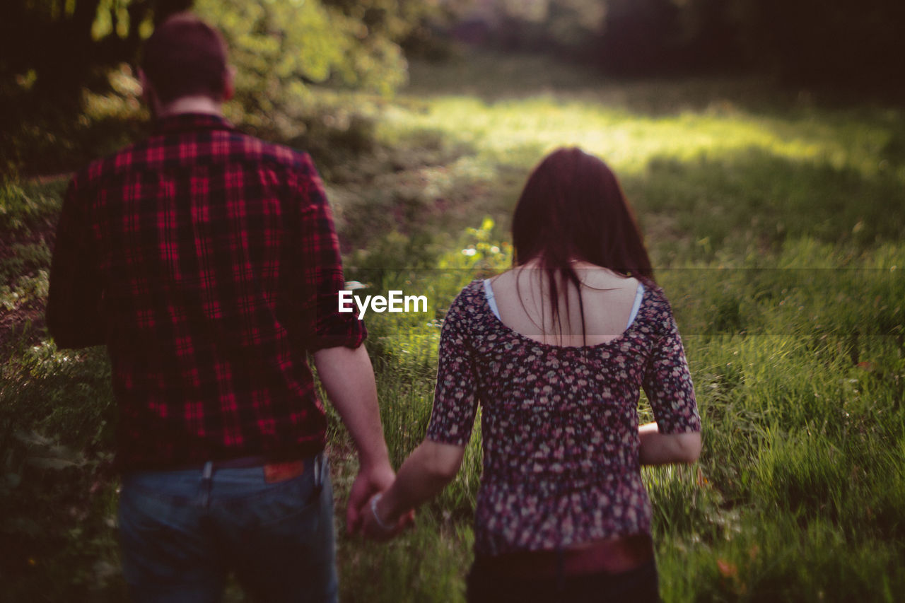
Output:
[[358,476],[346,512],[351,533],[361,522],[362,507],[395,479],[380,424],[374,369],[364,345],[319,349],[314,352],[314,366],[358,452]]

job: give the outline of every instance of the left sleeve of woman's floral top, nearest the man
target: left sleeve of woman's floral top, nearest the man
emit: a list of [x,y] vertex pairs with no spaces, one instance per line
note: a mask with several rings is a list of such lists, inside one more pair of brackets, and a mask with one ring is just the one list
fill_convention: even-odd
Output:
[[478,407],[474,358],[468,338],[464,292],[452,302],[440,333],[437,385],[426,438],[433,442],[467,445]]

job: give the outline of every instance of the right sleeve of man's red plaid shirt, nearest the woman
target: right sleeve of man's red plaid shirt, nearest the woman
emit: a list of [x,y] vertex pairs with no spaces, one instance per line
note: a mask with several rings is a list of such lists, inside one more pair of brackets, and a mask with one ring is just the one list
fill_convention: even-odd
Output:
[[358,320],[357,311],[338,310],[339,292],[345,289],[346,282],[333,214],[313,162],[309,156],[303,157],[299,276],[306,347],[310,351],[357,348],[367,337],[367,330],[364,321]]

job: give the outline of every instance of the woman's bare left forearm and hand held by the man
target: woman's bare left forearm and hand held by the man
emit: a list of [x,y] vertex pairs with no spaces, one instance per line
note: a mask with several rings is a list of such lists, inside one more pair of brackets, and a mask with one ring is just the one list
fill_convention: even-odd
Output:
[[397,526],[406,512],[440,493],[459,473],[464,455],[465,446],[424,440],[405,459],[393,485],[380,495],[374,508],[377,517],[374,512],[365,513],[365,533],[376,538],[395,533],[380,524]]

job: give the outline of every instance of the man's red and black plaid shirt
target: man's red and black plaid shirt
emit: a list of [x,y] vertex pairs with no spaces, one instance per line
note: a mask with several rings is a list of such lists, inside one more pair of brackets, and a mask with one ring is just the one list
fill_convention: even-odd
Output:
[[343,288],[310,157],[180,115],[73,177],[47,322],[107,344],[123,468],[278,460],[325,444],[306,352],[366,337]]

